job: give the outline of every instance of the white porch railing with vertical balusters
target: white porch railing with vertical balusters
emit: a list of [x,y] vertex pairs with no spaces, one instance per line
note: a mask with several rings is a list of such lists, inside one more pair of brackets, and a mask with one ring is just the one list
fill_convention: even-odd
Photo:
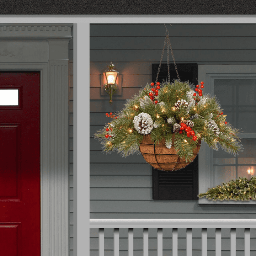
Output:
[[149,255],[150,228],[157,228],[157,256],[163,255],[163,228],[172,229],[172,256],[178,256],[178,228],[186,228],[186,255],[192,256],[192,229],[202,229],[202,256],[207,255],[207,229],[215,229],[215,255],[222,255],[221,229],[230,229],[230,256],[236,256],[236,229],[244,229],[244,256],[250,256],[250,229],[255,219],[90,219],[90,228],[98,228],[99,256],[104,256],[104,229],[114,229],[114,256],[119,256],[119,229],[128,229],[128,256],[133,256],[133,229],[143,228],[143,256]]

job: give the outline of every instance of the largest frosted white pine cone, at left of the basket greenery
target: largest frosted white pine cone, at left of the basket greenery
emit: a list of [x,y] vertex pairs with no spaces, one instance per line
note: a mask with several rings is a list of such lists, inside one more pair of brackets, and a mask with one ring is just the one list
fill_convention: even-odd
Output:
[[133,119],[134,128],[140,134],[148,134],[153,129],[153,120],[148,113],[140,113]]

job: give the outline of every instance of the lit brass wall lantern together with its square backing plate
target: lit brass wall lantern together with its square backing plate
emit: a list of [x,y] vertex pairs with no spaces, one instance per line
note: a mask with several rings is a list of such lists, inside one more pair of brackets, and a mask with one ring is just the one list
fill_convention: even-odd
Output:
[[112,96],[122,96],[122,76],[117,70],[114,70],[112,62],[108,65],[108,69],[101,75],[101,96],[110,97],[110,105],[112,105]]

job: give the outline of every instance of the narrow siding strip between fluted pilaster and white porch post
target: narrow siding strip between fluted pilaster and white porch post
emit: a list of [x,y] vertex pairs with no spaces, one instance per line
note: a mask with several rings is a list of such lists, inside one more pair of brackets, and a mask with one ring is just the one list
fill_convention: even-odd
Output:
[[71,27],[72,39],[69,41],[69,256],[73,256],[73,27]]

